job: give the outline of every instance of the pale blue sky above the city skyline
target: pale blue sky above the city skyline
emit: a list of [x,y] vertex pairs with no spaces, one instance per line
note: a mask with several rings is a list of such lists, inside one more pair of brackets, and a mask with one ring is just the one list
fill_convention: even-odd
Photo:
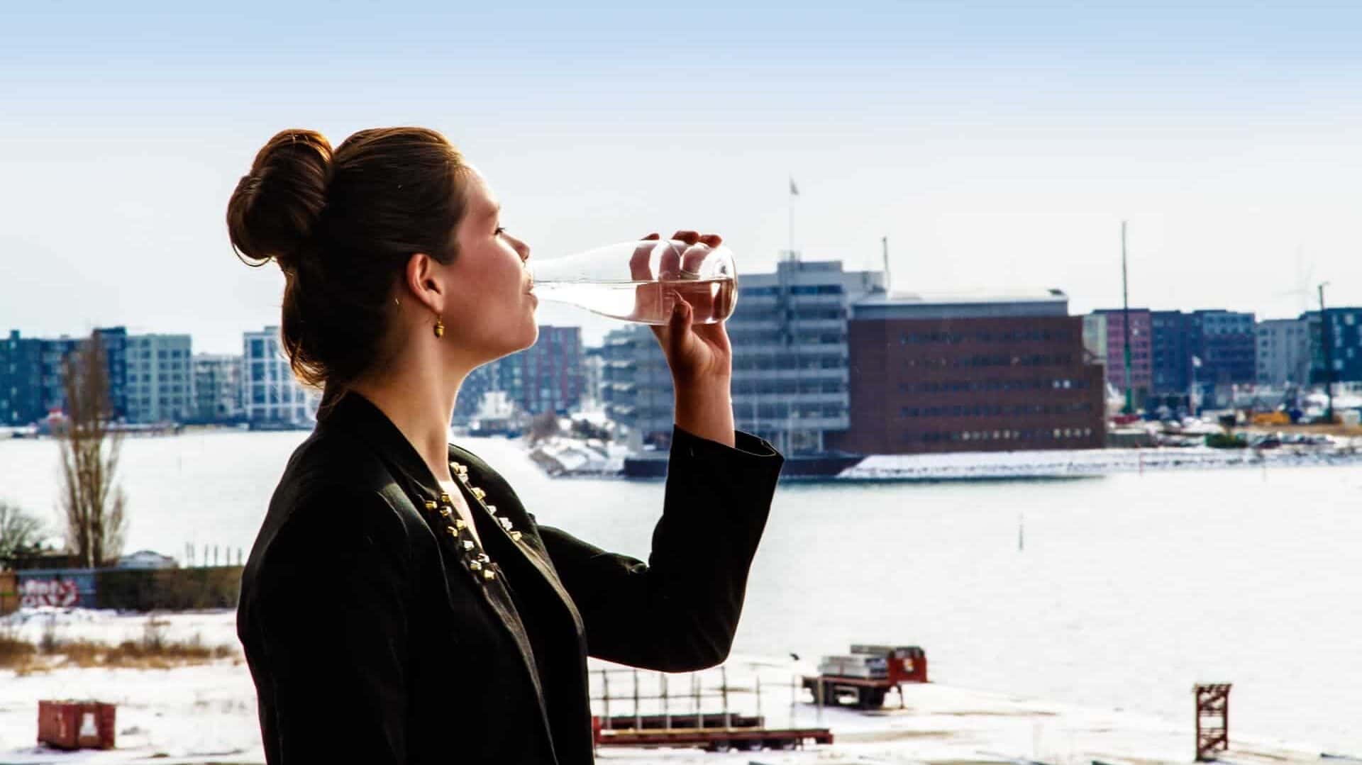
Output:
[[1126,218],[1137,304],[1290,316],[1305,270],[1362,304],[1362,11],[1188,5],[7,8],[0,329],[238,351],[282,279],[227,248],[237,177],[276,129],[388,124],[541,256],[700,227],[765,270],[793,174],[805,256],[888,235],[898,289],[1114,305]]

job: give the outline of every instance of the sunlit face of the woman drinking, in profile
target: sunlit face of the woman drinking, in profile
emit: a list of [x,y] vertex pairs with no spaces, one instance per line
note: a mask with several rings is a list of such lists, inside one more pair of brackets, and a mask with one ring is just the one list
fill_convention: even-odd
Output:
[[524,261],[530,248],[501,227],[501,206],[475,170],[466,178],[467,207],[455,234],[459,249],[448,268],[445,340],[492,361],[534,344],[538,298]]

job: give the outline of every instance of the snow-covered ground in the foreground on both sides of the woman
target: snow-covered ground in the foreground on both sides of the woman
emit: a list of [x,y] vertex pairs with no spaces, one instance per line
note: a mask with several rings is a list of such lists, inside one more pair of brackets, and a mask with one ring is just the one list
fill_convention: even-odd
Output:
[[[168,637],[206,645],[234,642],[230,611],[158,615]],[[45,629],[57,637],[136,640],[146,615],[86,610],[20,611],[0,619],[0,629],[38,640]],[[48,628],[46,625],[53,625]],[[592,696],[602,693],[603,664],[592,663]],[[1009,694],[945,685],[904,686],[904,706],[891,694],[885,708],[861,712],[817,708],[805,701],[791,681],[809,667],[790,660],[734,656],[725,672],[688,675],[639,672],[643,696],[655,696],[659,683],[670,689],[676,713],[692,712],[689,694],[700,689],[703,712],[714,712],[726,681],[729,709],[761,712],[771,727],[831,728],[835,743],[794,751],[704,753],[700,750],[642,750],[602,747],[598,760],[621,765],[646,762],[704,762],[707,765],[802,765],[838,762],[1190,762],[1190,709],[1185,727],[1114,709],[1088,709]],[[633,672],[613,668],[612,715],[632,715]],[[757,693],[760,689],[760,694]],[[57,753],[37,747],[39,698],[95,698],[118,705],[118,749]],[[640,713],[656,711],[643,702]],[[595,702],[601,712],[601,702]],[[1233,728],[1231,728],[1233,734]],[[1249,762],[1317,762],[1309,746],[1252,742],[1234,738],[1224,760]],[[56,668],[16,675],[0,670],[0,765],[5,764],[259,764],[264,761],[256,721],[255,689],[240,659],[174,670]]]

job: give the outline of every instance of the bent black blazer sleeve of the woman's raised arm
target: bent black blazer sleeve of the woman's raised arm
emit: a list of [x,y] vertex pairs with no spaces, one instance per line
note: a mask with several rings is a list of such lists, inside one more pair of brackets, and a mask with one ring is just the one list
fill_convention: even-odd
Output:
[[647,564],[539,527],[592,656],[670,672],[727,659],[785,461],[755,436],[735,441],[674,429]]

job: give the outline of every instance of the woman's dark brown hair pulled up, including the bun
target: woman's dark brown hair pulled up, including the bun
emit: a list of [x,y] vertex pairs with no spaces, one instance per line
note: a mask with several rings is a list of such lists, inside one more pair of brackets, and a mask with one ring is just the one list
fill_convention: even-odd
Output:
[[339,393],[383,361],[407,260],[456,255],[466,170],[425,128],[360,131],[334,152],[316,131],[283,131],[256,154],[227,233],[248,264],[283,271],[281,332],[298,380]]

